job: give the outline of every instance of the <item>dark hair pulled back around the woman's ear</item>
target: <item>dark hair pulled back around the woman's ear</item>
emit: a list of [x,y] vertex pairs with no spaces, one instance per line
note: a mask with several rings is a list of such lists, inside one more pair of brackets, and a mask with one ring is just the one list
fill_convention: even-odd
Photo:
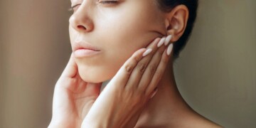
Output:
[[174,59],[178,58],[179,53],[181,50],[186,46],[188,38],[191,35],[191,31],[193,29],[193,24],[196,21],[196,14],[198,9],[198,0],[156,0],[157,4],[159,5],[159,9],[164,12],[169,12],[171,9],[174,9],[178,5],[185,5],[188,8],[189,16],[188,16],[188,23],[186,29],[178,39],[176,43],[174,43]]

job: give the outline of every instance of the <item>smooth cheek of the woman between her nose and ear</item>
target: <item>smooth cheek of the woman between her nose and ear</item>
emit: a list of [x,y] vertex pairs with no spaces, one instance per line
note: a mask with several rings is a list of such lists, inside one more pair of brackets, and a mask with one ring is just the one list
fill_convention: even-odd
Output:
[[105,42],[102,45],[107,48],[109,55],[121,60],[120,62],[124,62],[136,50],[145,48],[154,38],[160,36],[153,31],[156,22],[151,20],[151,16],[138,12],[141,11],[112,12],[98,16],[99,20],[95,22],[95,30],[100,30],[97,35],[101,35],[100,40]]

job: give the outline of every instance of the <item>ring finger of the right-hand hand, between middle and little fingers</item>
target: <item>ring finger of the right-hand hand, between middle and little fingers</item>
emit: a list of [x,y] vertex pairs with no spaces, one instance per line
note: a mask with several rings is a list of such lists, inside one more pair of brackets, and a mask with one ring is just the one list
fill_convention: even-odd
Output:
[[[149,87],[149,83],[151,82],[155,72],[156,68],[158,67],[161,56],[164,53],[164,50],[166,49],[166,46],[161,46],[156,53],[151,58],[149,65],[146,67],[146,70],[144,71],[142,75],[142,79],[139,82],[138,90],[146,90],[147,87]],[[147,93],[145,93],[147,95]]]

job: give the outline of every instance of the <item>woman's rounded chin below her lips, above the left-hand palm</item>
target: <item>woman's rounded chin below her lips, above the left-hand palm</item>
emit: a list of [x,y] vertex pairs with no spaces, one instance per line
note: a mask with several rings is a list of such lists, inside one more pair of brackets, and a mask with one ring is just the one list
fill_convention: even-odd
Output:
[[86,68],[78,66],[78,72],[82,80],[85,82],[99,83],[110,80],[115,73],[102,68]]

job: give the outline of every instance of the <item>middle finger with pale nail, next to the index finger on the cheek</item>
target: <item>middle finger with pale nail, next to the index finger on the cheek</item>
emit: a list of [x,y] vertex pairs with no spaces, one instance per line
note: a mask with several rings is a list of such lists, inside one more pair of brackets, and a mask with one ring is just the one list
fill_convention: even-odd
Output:
[[156,46],[157,43],[159,43],[160,38],[156,38],[148,47],[147,49],[152,49],[151,53],[149,55],[146,55],[142,60],[139,61],[139,63],[136,65],[134,70],[132,71],[132,74],[127,82],[127,89],[137,89],[137,85],[139,85],[139,81],[142,78],[142,74],[144,73],[144,70],[146,69],[146,66],[149,63],[149,60],[151,59],[151,56],[155,53],[157,50]]

